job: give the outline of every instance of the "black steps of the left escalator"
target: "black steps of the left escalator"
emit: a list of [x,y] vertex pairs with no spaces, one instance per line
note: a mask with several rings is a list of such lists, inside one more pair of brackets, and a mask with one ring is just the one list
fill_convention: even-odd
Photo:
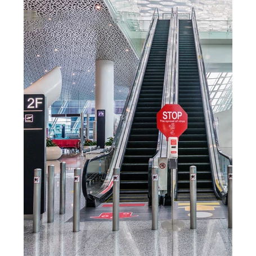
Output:
[[[156,114],[161,109],[170,20],[158,20],[123,164],[120,202],[148,201],[149,159],[156,152]],[[108,201],[111,201],[110,198]]]

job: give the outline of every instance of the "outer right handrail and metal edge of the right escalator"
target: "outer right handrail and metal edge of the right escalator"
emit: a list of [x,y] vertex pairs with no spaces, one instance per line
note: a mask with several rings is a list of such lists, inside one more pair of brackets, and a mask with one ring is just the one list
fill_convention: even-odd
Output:
[[210,93],[209,93],[209,88],[208,88],[208,83],[206,78],[206,72],[205,72],[205,66],[204,66],[204,60],[203,60],[203,51],[201,49],[200,37],[197,29],[194,8],[192,8],[191,19],[192,19],[192,25],[193,25],[194,35],[195,35],[197,62],[199,64],[199,77],[200,77],[201,92],[202,92],[202,98],[203,98],[204,114],[205,114],[206,134],[208,136],[208,145],[209,145],[209,152],[210,152],[209,156],[210,156],[210,162],[213,169],[213,175],[214,175],[214,181],[215,181],[214,190],[215,192],[217,192],[217,194],[220,197],[222,196],[224,197],[226,192],[222,187],[222,182],[219,180],[219,177],[221,176],[221,174],[219,174],[219,170],[218,170],[218,168],[220,167],[218,154],[228,159],[230,161],[230,164],[232,164],[232,158],[230,156],[227,156],[223,152],[221,152],[221,150],[219,149],[218,136],[215,128],[213,110],[212,110],[212,105],[210,103]]

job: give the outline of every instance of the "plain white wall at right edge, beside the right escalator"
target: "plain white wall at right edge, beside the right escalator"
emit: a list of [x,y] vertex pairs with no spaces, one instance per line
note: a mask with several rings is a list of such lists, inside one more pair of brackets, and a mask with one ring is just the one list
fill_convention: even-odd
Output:
[[218,141],[221,151],[232,156],[232,109],[214,114],[218,119]]

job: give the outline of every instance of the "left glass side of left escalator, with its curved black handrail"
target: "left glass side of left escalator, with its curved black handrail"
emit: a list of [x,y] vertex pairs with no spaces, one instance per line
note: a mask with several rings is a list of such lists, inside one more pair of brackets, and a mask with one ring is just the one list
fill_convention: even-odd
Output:
[[125,147],[136,110],[138,96],[140,95],[140,88],[158,19],[159,15],[156,9],[151,20],[149,32],[143,44],[143,51],[134,76],[133,87],[128,94],[123,113],[120,116],[113,147],[110,149],[109,153],[89,159],[84,164],[82,188],[83,195],[87,199],[87,205],[97,206],[98,203],[105,200],[108,194],[111,193],[113,187],[113,169],[114,167],[120,168],[120,165],[122,165]]

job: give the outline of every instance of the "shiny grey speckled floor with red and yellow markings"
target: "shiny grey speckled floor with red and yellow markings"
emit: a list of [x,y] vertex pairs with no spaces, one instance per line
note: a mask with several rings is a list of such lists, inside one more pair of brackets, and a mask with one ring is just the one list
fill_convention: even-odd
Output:
[[[73,232],[74,169],[83,169],[85,160],[86,158],[79,154],[64,154],[59,160],[47,161],[47,166],[55,165],[54,222],[47,222],[46,209],[42,214],[40,231],[33,233],[33,220],[24,218],[25,256],[239,255],[232,254],[232,228],[228,228],[227,206],[219,204],[218,201],[205,202],[204,206],[197,206],[199,211],[195,230],[190,228],[189,212],[186,212],[188,202],[176,202],[174,219],[179,219],[185,225],[179,231],[170,230],[163,224],[172,219],[170,206],[159,208],[158,230],[152,230],[151,208],[147,203],[136,202],[138,205],[127,207],[123,204],[120,206],[120,212],[129,213],[128,215],[134,217],[120,219],[119,231],[113,231],[111,218],[92,218],[102,216],[102,213],[111,214],[111,204],[85,208],[85,199],[81,191],[80,231]],[[66,161],[65,214],[59,214],[61,161]]]

